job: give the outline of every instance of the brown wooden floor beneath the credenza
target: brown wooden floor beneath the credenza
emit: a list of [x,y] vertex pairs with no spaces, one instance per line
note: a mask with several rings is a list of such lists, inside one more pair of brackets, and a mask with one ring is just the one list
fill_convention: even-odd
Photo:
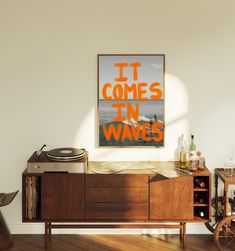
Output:
[[217,251],[213,235],[187,235],[181,247],[178,235],[53,235],[44,248],[43,235],[14,235],[14,246],[7,251]]

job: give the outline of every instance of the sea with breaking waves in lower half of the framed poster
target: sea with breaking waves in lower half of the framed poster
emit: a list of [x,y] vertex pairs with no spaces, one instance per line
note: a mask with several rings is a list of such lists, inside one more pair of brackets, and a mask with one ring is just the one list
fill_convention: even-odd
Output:
[[[117,112],[112,108],[116,100],[99,99],[99,145],[100,146],[163,146],[164,145],[164,100],[128,100],[133,107],[139,104],[138,121],[133,118],[115,122]],[[122,110],[127,118],[127,111]],[[156,127],[156,125],[158,126]],[[127,128],[128,127],[128,128]],[[123,132],[125,128],[125,133]],[[105,133],[106,131],[106,133]],[[126,133],[129,131],[130,133]],[[161,140],[159,136],[162,135]],[[109,137],[107,137],[109,135]]]

